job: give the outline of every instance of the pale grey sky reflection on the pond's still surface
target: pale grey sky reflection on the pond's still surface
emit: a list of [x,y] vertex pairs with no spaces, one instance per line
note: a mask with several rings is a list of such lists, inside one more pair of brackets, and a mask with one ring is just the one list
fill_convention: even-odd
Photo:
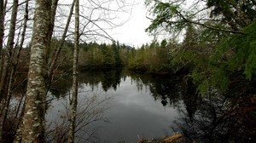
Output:
[[[91,87],[81,84],[79,87],[79,101],[85,96],[91,94]],[[95,92],[101,92],[101,85],[96,86]],[[137,142],[138,137],[154,138],[166,135],[166,131],[172,134],[170,126],[175,117],[176,109],[164,107],[160,100],[154,100],[150,91],[143,89],[137,90],[136,83],[131,84],[131,77],[125,81],[121,80],[116,91],[109,89],[108,94],[112,96],[110,109],[107,111],[107,117],[110,123],[97,123],[96,126],[102,126],[97,134],[101,140],[108,142]],[[67,105],[67,99],[56,101],[52,104],[47,118],[51,121],[59,121],[61,112],[65,112],[63,105]]]

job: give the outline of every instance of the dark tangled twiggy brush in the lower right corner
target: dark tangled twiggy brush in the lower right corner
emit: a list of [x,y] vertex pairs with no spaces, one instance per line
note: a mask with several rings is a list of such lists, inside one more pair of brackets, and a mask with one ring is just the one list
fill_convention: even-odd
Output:
[[256,106],[251,98],[204,98],[194,117],[180,110],[175,130],[182,131],[191,142],[255,142]]

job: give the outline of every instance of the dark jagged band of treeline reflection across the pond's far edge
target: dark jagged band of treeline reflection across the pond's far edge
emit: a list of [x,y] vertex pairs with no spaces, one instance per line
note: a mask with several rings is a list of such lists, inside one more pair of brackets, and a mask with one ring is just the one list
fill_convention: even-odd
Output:
[[[121,81],[125,81],[127,77],[131,77],[131,84],[135,84],[138,92],[149,90],[154,100],[160,100],[163,106],[178,106],[179,100],[183,98],[182,94],[195,94],[193,85],[185,85],[182,77],[139,74],[122,69],[80,73],[79,85],[90,86],[92,91],[99,85],[105,92],[108,92],[109,89],[115,91]],[[72,83],[70,81],[72,81],[71,75],[56,79],[49,92],[57,98],[65,96],[71,89]]]

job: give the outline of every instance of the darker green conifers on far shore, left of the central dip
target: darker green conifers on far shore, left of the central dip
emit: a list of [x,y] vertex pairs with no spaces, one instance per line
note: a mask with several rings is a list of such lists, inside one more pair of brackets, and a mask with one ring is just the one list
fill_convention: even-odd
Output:
[[[52,46],[56,46],[58,40],[55,39]],[[120,46],[119,43],[80,43],[79,44],[79,68],[83,69],[110,69],[125,66],[128,60],[130,48]],[[73,43],[67,41],[64,43],[59,61],[60,67],[72,66]]]

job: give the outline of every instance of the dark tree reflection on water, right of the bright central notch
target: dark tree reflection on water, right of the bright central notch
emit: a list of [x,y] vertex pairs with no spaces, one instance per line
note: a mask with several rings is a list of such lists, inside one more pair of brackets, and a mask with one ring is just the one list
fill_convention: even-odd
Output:
[[[131,74],[131,79],[137,84],[138,90],[143,90],[144,88],[149,88],[151,95],[154,100],[161,100],[163,106],[179,104],[179,100],[184,98],[185,105],[186,98],[191,98],[195,94],[195,87],[183,79],[183,77],[171,77],[171,76],[160,76],[151,74]],[[196,99],[195,99],[196,100]],[[191,109],[191,108],[189,108]],[[192,111],[191,111],[192,113]],[[192,113],[193,114],[193,113]]]

